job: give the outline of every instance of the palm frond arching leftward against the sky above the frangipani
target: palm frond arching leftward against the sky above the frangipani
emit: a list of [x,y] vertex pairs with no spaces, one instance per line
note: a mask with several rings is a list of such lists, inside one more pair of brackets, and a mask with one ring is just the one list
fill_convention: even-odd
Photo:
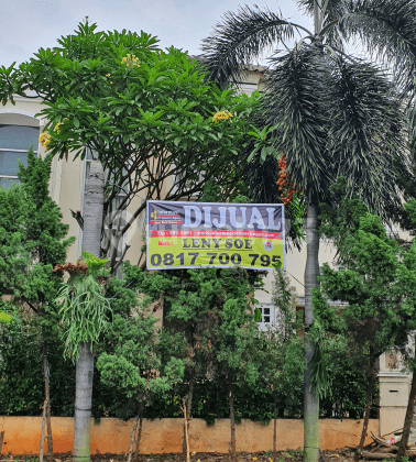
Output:
[[219,86],[226,82],[239,85],[242,69],[264,50],[292,40],[296,29],[304,28],[269,9],[262,11],[259,7],[243,6],[237,13],[228,11],[201,45],[211,80]]

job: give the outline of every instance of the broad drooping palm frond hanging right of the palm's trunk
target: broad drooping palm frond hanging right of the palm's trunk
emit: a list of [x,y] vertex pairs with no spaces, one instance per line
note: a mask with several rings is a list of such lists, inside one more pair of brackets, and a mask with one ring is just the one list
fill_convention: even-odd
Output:
[[332,58],[328,87],[328,151],[335,176],[347,178],[372,210],[386,218],[401,201],[397,160],[409,165],[405,111],[381,70],[362,61]]

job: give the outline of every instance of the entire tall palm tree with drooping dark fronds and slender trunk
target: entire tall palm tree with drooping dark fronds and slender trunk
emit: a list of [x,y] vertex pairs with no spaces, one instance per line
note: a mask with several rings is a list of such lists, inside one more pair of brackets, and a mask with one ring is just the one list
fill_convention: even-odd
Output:
[[[238,85],[241,72],[264,51],[270,59],[261,122],[272,128],[275,152],[306,205],[305,331],[314,323],[318,286],[318,205],[343,176],[384,219],[401,204],[396,176],[409,172],[408,113],[415,97],[416,0],[297,0],[314,31],[258,7],[228,12],[202,43],[210,77]],[[359,38],[379,65],[346,51]],[[291,48],[288,43],[295,45]],[[393,72],[386,75],[381,64]],[[385,67],[385,66],[383,66]],[[397,91],[399,90],[399,91]],[[269,198],[265,201],[276,201]],[[306,336],[306,339],[308,337]],[[319,397],[311,391],[315,344],[306,340],[305,460],[319,459]]]

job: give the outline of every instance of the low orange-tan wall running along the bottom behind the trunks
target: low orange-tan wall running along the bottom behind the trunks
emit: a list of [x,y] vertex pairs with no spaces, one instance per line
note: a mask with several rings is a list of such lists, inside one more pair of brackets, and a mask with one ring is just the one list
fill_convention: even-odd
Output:
[[[335,450],[359,443],[363,420],[319,420],[319,441],[322,450]],[[304,421],[300,419],[277,420],[277,450],[303,448]],[[2,453],[39,453],[42,417],[0,417],[0,431],[4,431]],[[90,424],[91,454],[125,453],[133,420],[127,422],[105,418]],[[379,435],[379,420],[370,420],[369,431]],[[273,421],[269,426],[242,420],[236,426],[237,451],[269,451],[273,446]],[[52,417],[54,452],[73,449],[74,420],[69,417]],[[141,453],[182,452],[183,419],[155,419],[143,421]],[[368,442],[370,440],[368,439]],[[189,426],[190,451],[226,453],[230,447],[230,421],[218,419],[212,426],[193,419]]]

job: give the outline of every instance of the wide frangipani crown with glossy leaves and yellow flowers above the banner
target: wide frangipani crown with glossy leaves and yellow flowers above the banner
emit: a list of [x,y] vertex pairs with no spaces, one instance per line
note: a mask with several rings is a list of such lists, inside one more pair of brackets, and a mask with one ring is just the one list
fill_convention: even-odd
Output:
[[[52,155],[63,158],[72,151],[85,158],[89,150],[109,172],[103,216],[110,222],[119,218],[112,199],[120,190],[129,199],[120,206],[125,209],[138,194],[171,200],[200,196],[212,178],[223,199],[241,187],[244,160],[239,154],[260,95],[220,91],[195,59],[173,47],[158,48],[150,34],[101,32],[97,24],[80,23],[58,46],[0,68],[3,103],[30,89],[43,99]],[[215,122],[222,111],[230,120]],[[139,215],[144,207],[129,212]],[[106,255],[110,266],[116,248]]]

